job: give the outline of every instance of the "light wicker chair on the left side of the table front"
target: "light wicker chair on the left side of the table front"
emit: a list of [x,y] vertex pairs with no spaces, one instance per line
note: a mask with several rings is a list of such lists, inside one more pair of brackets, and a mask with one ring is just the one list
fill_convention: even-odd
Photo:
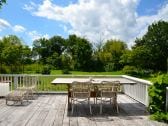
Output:
[[[90,84],[91,82],[73,82],[70,88],[71,91],[71,105],[72,114],[74,111],[74,105],[78,103],[87,102],[90,108],[90,114],[92,114],[90,104]],[[82,100],[82,101],[81,101]]]

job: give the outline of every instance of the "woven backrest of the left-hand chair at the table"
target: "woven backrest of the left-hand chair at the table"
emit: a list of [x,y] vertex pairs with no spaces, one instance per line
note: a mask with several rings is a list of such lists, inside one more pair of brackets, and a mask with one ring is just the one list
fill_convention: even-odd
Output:
[[77,82],[74,81],[71,85],[72,97],[75,98],[88,98],[90,97],[91,82]]

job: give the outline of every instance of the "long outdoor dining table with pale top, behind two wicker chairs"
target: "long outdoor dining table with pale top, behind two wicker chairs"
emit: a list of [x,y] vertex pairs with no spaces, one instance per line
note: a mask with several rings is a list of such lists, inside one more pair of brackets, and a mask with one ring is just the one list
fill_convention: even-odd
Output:
[[[51,83],[52,84],[67,84],[68,86],[68,109],[71,109],[71,104],[70,104],[70,97],[71,97],[71,91],[70,91],[70,85],[74,82],[87,82],[91,81],[92,84],[99,85],[101,84],[102,81],[108,81],[108,82],[113,82],[113,81],[119,81],[120,84],[136,84],[135,81],[131,81],[126,78],[56,78],[54,79]],[[96,97],[95,92],[91,92],[91,97]]]

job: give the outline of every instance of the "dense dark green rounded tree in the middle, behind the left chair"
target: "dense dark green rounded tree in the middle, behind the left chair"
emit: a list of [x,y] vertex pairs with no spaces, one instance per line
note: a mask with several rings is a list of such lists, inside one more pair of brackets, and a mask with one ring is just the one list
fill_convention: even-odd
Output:
[[91,43],[76,35],[70,35],[67,39],[67,53],[72,57],[72,62],[75,70],[90,71],[92,59]]

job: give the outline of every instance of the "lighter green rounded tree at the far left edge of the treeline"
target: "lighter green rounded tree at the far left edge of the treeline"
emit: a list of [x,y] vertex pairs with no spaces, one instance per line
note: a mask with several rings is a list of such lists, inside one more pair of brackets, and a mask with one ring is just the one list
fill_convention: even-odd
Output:
[[31,50],[15,35],[3,37],[0,41],[1,65],[10,66],[10,73],[24,71],[24,65],[31,63]]

